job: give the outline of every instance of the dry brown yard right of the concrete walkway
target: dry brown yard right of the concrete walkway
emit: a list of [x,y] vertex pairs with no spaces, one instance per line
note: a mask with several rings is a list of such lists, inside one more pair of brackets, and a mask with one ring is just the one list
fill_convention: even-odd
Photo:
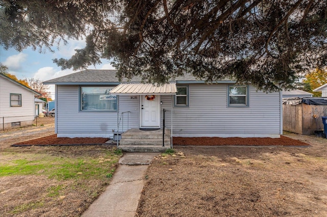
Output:
[[327,143],[174,146],[147,171],[137,216],[327,216]]

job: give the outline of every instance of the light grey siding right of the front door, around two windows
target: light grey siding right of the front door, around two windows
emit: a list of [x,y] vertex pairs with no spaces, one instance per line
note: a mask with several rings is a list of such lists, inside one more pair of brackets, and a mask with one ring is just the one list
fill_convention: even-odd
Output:
[[[227,107],[227,84],[190,84],[190,105],[173,108],[173,133],[181,137],[278,137],[281,131],[279,92],[249,88],[250,107]],[[162,96],[170,127],[170,96]]]

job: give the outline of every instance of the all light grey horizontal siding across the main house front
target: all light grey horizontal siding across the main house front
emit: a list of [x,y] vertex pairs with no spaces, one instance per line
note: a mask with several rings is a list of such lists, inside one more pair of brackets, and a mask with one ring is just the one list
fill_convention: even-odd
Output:
[[[228,107],[228,84],[188,84],[189,106],[173,107],[174,96],[161,95],[160,113],[166,109],[166,127],[171,127],[173,111],[174,137],[279,137],[281,133],[281,96],[249,87],[249,107]],[[84,137],[112,136],[121,120],[120,131],[139,127],[139,97],[119,96],[118,112],[80,111],[79,87],[57,86],[57,133]],[[174,105],[174,104],[173,104]],[[127,118],[128,117],[128,118]],[[122,118],[123,119],[123,118]],[[128,123],[127,123],[128,120]],[[122,129],[124,125],[124,129]]]

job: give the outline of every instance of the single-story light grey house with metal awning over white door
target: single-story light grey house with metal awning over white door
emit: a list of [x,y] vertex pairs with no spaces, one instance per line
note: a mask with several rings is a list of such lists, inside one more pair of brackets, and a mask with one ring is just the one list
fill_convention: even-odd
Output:
[[163,109],[174,137],[279,138],[283,132],[281,92],[231,80],[205,84],[190,75],[156,87],[137,77],[119,82],[115,74],[84,70],[43,82],[56,85],[58,137],[109,138],[118,123],[120,132],[161,128]]

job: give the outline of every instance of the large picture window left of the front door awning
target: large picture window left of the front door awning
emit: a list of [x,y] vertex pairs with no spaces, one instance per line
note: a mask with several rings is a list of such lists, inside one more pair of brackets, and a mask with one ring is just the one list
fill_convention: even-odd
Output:
[[113,87],[81,87],[81,110],[82,111],[116,111],[117,96],[110,95]]

